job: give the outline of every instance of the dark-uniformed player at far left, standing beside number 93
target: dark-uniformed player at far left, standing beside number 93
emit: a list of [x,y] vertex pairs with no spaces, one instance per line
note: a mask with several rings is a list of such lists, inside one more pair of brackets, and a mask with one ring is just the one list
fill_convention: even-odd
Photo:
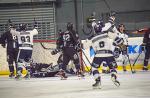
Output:
[[[12,29],[14,28],[14,26],[11,25],[9,28]],[[10,30],[1,35],[2,47],[5,48],[6,44],[7,44],[7,62],[10,71],[9,77],[12,78],[15,76],[15,67],[17,67],[18,41],[17,36],[13,35],[10,32]]]

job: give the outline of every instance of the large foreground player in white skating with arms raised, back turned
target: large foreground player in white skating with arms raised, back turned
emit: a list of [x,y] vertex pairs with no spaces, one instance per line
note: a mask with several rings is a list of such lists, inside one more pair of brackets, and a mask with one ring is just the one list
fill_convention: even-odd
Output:
[[118,30],[114,25],[115,13],[111,13],[108,23],[105,23],[104,27],[101,30],[101,33],[98,33],[91,39],[92,47],[95,51],[95,57],[92,63],[92,72],[95,78],[95,83],[92,85],[93,88],[100,88],[101,85],[101,76],[98,71],[102,62],[106,62],[110,72],[111,79],[116,86],[119,86],[120,83],[117,80],[117,63],[114,59],[112,53],[112,42],[113,39],[115,45],[121,44],[123,41],[118,37]]

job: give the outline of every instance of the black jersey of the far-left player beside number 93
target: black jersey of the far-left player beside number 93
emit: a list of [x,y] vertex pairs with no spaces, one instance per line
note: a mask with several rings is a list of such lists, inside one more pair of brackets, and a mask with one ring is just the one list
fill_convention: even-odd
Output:
[[7,43],[7,50],[18,48],[17,36],[12,35],[10,31],[7,31],[1,35],[1,44],[5,46]]

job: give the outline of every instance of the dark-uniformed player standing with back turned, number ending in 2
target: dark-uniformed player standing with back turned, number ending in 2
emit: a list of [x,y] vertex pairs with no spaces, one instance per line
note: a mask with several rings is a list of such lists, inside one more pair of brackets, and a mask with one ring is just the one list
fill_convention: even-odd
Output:
[[[67,30],[62,33],[59,39],[59,44],[60,46],[62,46],[61,48],[63,52],[63,64],[62,66],[60,66],[60,73],[64,75],[66,71],[66,66],[68,65],[70,60],[73,60],[77,69],[76,73],[81,74],[78,56],[78,51],[80,51],[79,49],[81,48],[80,41],[78,34],[75,32],[75,30],[73,30],[72,23],[67,23]],[[63,78],[67,77],[65,76]]]

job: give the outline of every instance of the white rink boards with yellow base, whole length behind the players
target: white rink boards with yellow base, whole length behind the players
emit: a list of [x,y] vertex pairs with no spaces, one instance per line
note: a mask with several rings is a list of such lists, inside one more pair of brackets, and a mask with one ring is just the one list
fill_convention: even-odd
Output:
[[[142,37],[129,38],[128,53],[129,53],[129,58],[130,58],[131,64],[134,63],[135,59],[137,58],[137,56],[141,52],[140,45],[142,43],[142,40],[143,40]],[[55,45],[52,46],[52,47],[55,48]],[[46,63],[53,62],[55,64],[57,62],[58,55],[50,57],[51,55],[50,55],[49,51],[42,50],[40,48],[41,48],[40,45],[38,43],[35,43],[34,50],[33,50],[33,54],[34,54],[33,59],[35,59],[37,61],[42,60],[42,61],[44,61]],[[0,74],[9,74],[8,65],[7,65],[7,62],[6,62],[6,60],[7,60],[7,57],[6,57],[6,48],[2,48],[0,46],[0,50],[1,50],[0,51]],[[83,49],[83,51],[86,54],[86,57],[88,58],[88,60],[90,62],[92,62],[94,55],[90,54],[90,49],[86,48],[86,49]],[[42,59],[39,56],[39,52],[45,52],[44,53],[44,57]],[[47,54],[47,55],[45,55],[45,54]],[[86,59],[86,57],[83,55],[83,60],[86,63],[85,69],[88,70],[87,67],[90,69],[91,66],[90,66],[88,60]],[[117,60],[117,64],[119,65],[118,70],[122,70],[122,67],[121,67],[122,66],[122,55],[120,55],[119,58],[117,58],[116,60]],[[142,66],[143,66],[143,61],[144,61],[144,52],[142,52],[141,55],[139,56],[137,62],[135,63],[134,68],[135,69],[141,69]],[[149,62],[149,64],[150,64],[150,62]],[[131,69],[130,65],[128,64],[127,70],[130,70],[130,69]]]

